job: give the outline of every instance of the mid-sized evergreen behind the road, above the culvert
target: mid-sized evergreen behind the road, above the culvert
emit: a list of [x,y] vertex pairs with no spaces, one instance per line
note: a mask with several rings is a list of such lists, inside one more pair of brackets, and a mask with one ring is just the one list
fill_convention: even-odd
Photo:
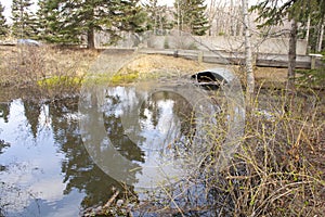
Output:
[[179,30],[190,31],[196,36],[203,36],[210,28],[205,15],[207,5],[204,0],[176,0],[174,13]]

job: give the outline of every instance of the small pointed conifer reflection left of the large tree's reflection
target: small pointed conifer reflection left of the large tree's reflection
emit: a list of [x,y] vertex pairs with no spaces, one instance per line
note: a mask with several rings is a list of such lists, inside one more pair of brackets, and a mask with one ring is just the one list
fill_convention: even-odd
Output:
[[35,101],[24,101],[25,117],[30,125],[34,138],[37,137],[37,129],[39,125],[39,115],[41,113],[41,105]]

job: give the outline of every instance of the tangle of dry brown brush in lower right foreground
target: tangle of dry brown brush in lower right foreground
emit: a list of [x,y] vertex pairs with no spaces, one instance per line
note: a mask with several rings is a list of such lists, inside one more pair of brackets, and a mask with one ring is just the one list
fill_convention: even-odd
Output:
[[[214,167],[219,149],[207,150],[211,157],[200,174],[152,193],[140,212],[158,216],[323,216],[325,101],[320,97],[324,92],[300,94],[294,99],[296,107],[285,112],[285,94],[264,91],[247,114],[238,152],[225,169]],[[213,138],[216,146],[222,145],[220,137]]]

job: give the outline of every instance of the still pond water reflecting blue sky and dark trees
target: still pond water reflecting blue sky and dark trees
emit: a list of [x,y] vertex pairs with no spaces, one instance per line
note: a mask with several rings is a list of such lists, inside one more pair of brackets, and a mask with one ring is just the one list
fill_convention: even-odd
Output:
[[[105,203],[114,188],[122,191],[119,181],[136,190],[158,177],[151,170],[157,162],[180,161],[196,125],[182,95],[125,87],[100,94],[82,95],[89,101],[17,98],[0,103],[0,216],[78,216]],[[130,116],[134,111],[136,118]],[[116,153],[131,166],[117,164]],[[174,164],[164,169],[179,175]]]

